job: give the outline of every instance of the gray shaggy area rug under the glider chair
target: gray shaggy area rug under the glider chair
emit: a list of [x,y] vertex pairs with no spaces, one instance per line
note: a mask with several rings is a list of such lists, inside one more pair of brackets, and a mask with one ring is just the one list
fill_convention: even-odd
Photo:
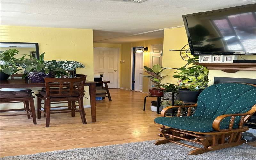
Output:
[[[256,159],[256,147],[247,144],[232,148],[225,148],[217,151],[210,151],[199,155],[188,155],[192,148],[167,143],[154,145],[152,141],[125,143],[118,145],[77,148],[69,150],[59,150],[52,152],[37,153],[31,155],[7,156],[1,160],[155,160],[155,159]],[[184,143],[184,141],[182,141]],[[190,142],[186,142],[191,144]]]

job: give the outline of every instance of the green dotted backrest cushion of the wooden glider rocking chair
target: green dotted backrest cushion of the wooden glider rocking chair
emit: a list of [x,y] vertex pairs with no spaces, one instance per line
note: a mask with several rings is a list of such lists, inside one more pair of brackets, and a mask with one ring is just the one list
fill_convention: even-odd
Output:
[[256,104],[256,86],[241,83],[215,84],[201,92],[197,103],[194,116],[215,119],[224,114],[245,113]]

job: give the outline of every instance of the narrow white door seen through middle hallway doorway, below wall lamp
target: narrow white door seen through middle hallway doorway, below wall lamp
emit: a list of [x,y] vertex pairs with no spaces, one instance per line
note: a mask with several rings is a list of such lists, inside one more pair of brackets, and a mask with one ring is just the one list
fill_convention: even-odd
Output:
[[142,90],[143,84],[143,53],[135,54],[134,90]]

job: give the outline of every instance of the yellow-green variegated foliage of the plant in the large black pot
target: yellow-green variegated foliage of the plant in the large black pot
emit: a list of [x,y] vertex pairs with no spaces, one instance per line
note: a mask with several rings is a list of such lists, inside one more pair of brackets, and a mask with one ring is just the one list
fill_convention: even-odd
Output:
[[208,80],[209,70],[207,67],[201,65],[195,65],[192,67],[186,67],[181,72],[174,75],[174,78],[178,78],[178,88],[187,88],[190,91],[199,91],[206,88]]

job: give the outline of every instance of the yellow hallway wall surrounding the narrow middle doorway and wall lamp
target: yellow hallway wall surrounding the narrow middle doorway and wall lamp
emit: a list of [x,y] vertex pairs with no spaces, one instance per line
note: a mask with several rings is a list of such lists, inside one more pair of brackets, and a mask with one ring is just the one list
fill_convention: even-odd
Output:
[[[150,46],[154,44],[163,44],[163,38],[121,44],[121,60],[125,60],[125,63],[121,63],[121,88],[130,89],[131,87],[131,48],[139,46],[148,47],[148,51],[145,51],[143,54],[143,63],[144,66],[149,66]],[[148,92],[148,82],[148,78],[143,77],[143,92]]]

